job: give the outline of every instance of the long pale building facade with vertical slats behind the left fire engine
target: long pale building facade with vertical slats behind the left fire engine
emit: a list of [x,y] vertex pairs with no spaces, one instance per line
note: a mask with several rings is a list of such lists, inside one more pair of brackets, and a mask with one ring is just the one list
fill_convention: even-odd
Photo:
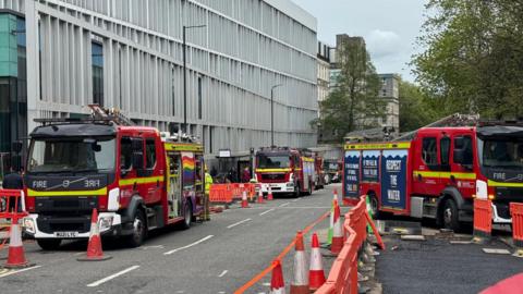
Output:
[[[2,0],[2,151],[36,118],[118,108],[168,131],[183,122],[182,27],[187,35],[187,123],[208,154],[275,142],[316,144],[316,19],[290,0]],[[16,114],[13,115],[13,109]]]

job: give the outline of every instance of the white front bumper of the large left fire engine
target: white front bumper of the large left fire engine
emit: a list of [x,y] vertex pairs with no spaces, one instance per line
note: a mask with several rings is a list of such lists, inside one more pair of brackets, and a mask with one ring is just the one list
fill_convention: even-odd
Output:
[[[41,228],[38,228],[38,215],[33,213],[23,219],[23,232],[24,235],[29,238],[88,238],[90,232],[77,232],[74,234],[74,237],[63,237],[58,236],[54,233],[64,232],[62,230],[54,232],[44,232]],[[56,221],[59,221],[59,218],[54,218]],[[40,222],[41,224],[41,222]],[[122,218],[115,212],[101,212],[98,215],[98,228],[100,235],[111,236],[119,235],[122,230]],[[68,230],[69,231],[69,230]]]

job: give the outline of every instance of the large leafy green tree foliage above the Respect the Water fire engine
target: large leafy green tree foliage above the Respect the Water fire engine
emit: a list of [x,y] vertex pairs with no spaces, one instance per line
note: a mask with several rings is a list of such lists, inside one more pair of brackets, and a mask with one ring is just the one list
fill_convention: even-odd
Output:
[[430,0],[413,59],[438,111],[523,114],[523,0]]

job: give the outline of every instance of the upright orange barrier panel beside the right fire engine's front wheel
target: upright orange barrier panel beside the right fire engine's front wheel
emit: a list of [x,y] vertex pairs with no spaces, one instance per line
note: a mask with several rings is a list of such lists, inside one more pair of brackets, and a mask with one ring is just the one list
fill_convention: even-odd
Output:
[[488,199],[474,199],[474,243],[490,240],[492,232],[492,203]]

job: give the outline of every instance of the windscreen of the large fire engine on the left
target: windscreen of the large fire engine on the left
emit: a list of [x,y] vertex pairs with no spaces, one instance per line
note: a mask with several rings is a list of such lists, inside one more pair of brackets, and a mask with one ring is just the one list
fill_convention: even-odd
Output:
[[112,171],[115,140],[102,138],[34,139],[29,150],[28,172]]

